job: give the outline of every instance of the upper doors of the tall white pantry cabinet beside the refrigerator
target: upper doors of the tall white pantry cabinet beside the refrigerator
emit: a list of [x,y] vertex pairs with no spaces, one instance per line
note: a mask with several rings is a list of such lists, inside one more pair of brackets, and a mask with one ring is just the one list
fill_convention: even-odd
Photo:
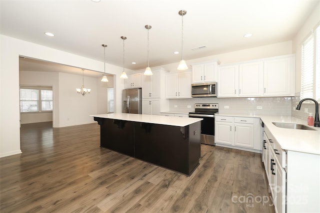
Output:
[[160,72],[152,71],[152,75],[142,75],[142,98],[160,97]]

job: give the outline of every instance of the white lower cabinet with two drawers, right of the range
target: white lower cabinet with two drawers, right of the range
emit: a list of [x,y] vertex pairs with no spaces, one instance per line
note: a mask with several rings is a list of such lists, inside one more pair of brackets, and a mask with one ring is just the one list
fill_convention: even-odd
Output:
[[260,152],[259,118],[215,116],[216,145]]

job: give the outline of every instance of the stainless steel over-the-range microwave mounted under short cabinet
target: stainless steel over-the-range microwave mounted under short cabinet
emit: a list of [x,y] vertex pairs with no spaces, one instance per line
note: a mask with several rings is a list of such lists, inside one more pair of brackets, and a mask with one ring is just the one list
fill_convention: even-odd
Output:
[[191,84],[192,97],[216,97],[216,82]]

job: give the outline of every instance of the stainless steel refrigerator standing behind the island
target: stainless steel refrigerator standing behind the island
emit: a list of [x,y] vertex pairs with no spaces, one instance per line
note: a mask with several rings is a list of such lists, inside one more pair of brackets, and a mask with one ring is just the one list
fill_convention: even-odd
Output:
[[122,90],[122,112],[142,114],[141,88]]

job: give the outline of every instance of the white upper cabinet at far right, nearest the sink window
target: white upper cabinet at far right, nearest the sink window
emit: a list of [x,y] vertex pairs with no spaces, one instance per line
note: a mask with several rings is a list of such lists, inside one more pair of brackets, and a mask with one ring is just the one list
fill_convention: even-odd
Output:
[[295,55],[264,60],[264,96],[294,96]]

